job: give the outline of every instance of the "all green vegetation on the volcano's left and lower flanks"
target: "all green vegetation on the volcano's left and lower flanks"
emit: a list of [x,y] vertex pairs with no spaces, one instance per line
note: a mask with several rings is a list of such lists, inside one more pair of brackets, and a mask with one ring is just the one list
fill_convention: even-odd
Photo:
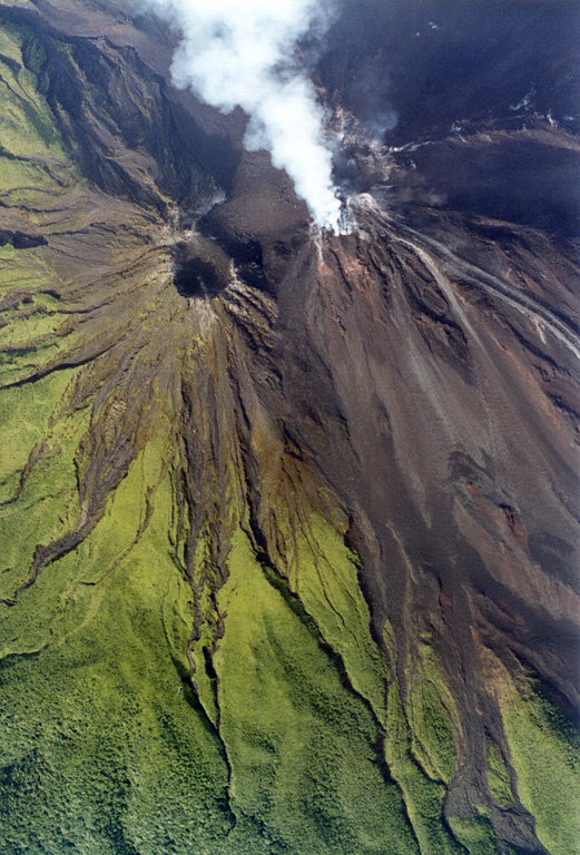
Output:
[[[0,32],[0,53],[21,63],[23,33]],[[0,193],[28,206],[79,177],[33,75],[2,61],[0,75]],[[41,249],[0,247],[0,299],[55,276]],[[16,299],[0,328],[2,383],[59,352],[68,334],[57,309],[46,294]],[[81,371],[0,389],[0,597],[26,579],[38,543],[82,517],[77,459],[92,402],[66,406]],[[191,590],[174,554],[170,455],[159,415],[96,528],[16,606],[0,605],[2,854],[497,852],[483,814],[451,823],[463,848],[441,822],[455,764],[452,698],[425,646],[403,711],[340,527],[313,514],[287,532],[285,578],[237,529],[215,674],[196,649],[197,700],[183,679]],[[550,852],[568,855],[570,832],[547,794],[570,758],[554,734],[540,759],[547,731],[531,705],[505,711],[521,795]],[[490,760],[490,784],[507,800],[500,760]]]

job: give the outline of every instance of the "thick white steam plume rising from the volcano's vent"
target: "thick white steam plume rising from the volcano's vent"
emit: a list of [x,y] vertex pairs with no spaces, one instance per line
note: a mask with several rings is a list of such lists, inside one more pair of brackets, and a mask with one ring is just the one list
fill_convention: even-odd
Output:
[[[332,180],[323,110],[296,43],[330,23],[328,0],[144,0],[183,31],[171,73],[224,112],[249,116],[244,145],[271,153],[320,227],[338,230],[341,202]],[[324,7],[324,10],[323,10]],[[315,28],[315,29],[313,29]]]

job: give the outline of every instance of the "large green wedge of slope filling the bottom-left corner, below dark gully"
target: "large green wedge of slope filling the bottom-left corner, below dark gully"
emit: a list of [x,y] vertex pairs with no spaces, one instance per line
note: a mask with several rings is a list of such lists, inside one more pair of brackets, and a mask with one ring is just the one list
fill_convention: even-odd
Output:
[[1,662],[3,855],[215,855],[232,827],[223,746],[183,679],[190,591],[170,560],[173,501],[153,445],[83,548],[0,607],[4,638],[27,647],[38,610],[46,643]]

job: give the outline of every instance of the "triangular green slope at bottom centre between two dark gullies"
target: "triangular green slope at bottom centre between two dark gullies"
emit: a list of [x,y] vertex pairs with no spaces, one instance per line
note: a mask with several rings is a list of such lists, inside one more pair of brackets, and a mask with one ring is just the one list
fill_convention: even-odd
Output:
[[268,581],[242,532],[229,571],[215,668],[239,825],[224,852],[268,852],[257,842],[252,848],[252,835],[266,835],[273,851],[304,855],[416,853],[399,788],[382,772],[371,710],[343,685],[318,632]]

